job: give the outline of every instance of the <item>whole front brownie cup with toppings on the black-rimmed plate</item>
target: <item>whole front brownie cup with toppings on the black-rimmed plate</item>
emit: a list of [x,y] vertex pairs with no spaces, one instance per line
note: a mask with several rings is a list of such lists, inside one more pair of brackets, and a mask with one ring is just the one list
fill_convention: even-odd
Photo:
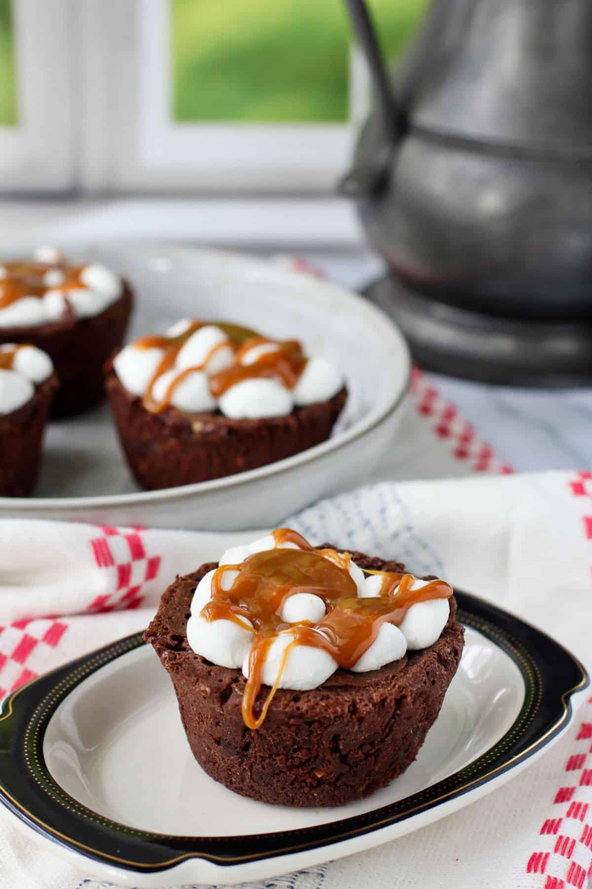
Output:
[[[281,545],[277,542],[277,535],[285,533],[285,530],[274,533],[276,546]],[[299,535],[296,536],[294,533],[291,535],[288,537],[291,541],[300,543],[303,540]],[[261,545],[261,541],[258,541],[258,544]],[[251,582],[253,571],[261,570],[261,565],[257,569],[257,566],[252,564],[254,559],[261,560],[267,557],[260,551],[257,553],[257,545],[255,549],[256,555],[247,557],[241,567],[241,570],[245,570],[245,566],[249,568],[251,565],[249,569]],[[296,553],[296,556],[293,549],[283,552],[288,555],[280,557],[274,555],[272,558],[302,560],[307,550]],[[335,554],[339,551],[335,551],[328,544],[320,550],[312,550],[312,554],[316,553],[317,556],[321,552],[324,552],[325,558],[336,561]],[[308,554],[309,557],[314,557],[311,550],[308,550]],[[389,655],[388,645],[387,648],[384,645],[381,647],[383,632],[381,624],[378,636],[374,635],[374,641],[358,660],[359,670],[364,666],[375,669],[356,671],[356,666],[351,664],[349,669],[343,669],[335,663],[335,669],[331,671],[329,665],[329,675],[326,675],[316,687],[310,687],[310,683],[308,688],[302,687],[307,685],[307,680],[303,681],[302,676],[298,677],[295,674],[288,677],[284,685],[291,683],[300,685],[300,688],[270,688],[269,685],[261,685],[259,690],[256,685],[255,698],[252,690],[249,697],[249,683],[255,675],[253,667],[257,662],[253,652],[260,651],[263,645],[267,650],[265,656],[270,657],[270,644],[269,637],[263,634],[261,638],[261,630],[257,630],[259,624],[255,615],[258,613],[260,617],[261,612],[257,612],[257,607],[253,607],[252,600],[249,610],[249,601],[244,597],[244,589],[242,592],[235,590],[233,619],[245,621],[249,614],[256,632],[253,637],[255,641],[245,658],[243,669],[220,665],[222,661],[226,664],[231,662],[236,652],[231,655],[231,660],[228,660],[228,655],[221,657],[212,653],[210,649],[208,652],[210,658],[216,656],[219,661],[214,663],[192,649],[187,627],[188,621],[194,621],[198,613],[195,600],[199,599],[198,605],[202,605],[204,601],[200,593],[201,584],[211,583],[212,599],[205,609],[205,613],[210,609],[208,617],[211,625],[216,624],[224,616],[224,607],[228,605],[228,601],[224,601],[224,594],[220,597],[219,586],[215,587],[211,581],[212,576],[216,577],[212,574],[213,570],[217,569],[216,563],[201,565],[196,572],[178,577],[163,594],[158,612],[146,630],[145,640],[154,646],[162,666],[170,674],[193,756],[205,772],[228,789],[264,803],[293,806],[343,805],[367,797],[407,769],[422,747],[430,726],[438,717],[446,690],[458,667],[463,646],[463,629],[456,620],[456,603],[452,590],[448,588],[447,597],[440,599],[440,605],[436,606],[436,610],[440,613],[438,617],[440,623],[438,625],[433,623],[435,612],[432,610],[432,624],[428,629],[425,609],[427,606],[429,610],[433,601],[426,597],[435,593],[440,597],[446,596],[444,588],[447,585],[444,581],[435,579],[415,581],[412,578],[414,583],[411,587],[414,589],[414,594],[410,596],[411,575],[404,573],[403,565],[367,557],[359,552],[352,552],[350,557],[350,573],[353,574],[354,569],[356,571],[361,569],[359,575],[362,581],[359,581],[358,577],[357,582],[359,599],[364,603],[364,620],[367,620],[368,615],[372,615],[372,620],[375,621],[379,613],[384,618],[384,609],[389,608],[390,602],[392,607],[389,616],[391,620],[398,621],[401,630],[405,629],[407,645],[399,647],[397,651],[393,649],[397,656],[391,661],[384,661]],[[223,557],[221,562],[224,561]],[[231,557],[230,561],[232,563],[234,558]],[[274,570],[277,570],[277,567],[276,564]],[[284,567],[289,574],[295,565],[291,568],[287,565]],[[236,569],[237,565],[229,565],[229,570]],[[304,566],[304,569],[310,572],[310,565],[308,569]],[[300,573],[298,589],[303,589],[302,580]],[[285,581],[285,577],[282,581]],[[334,583],[335,578],[331,582]],[[407,592],[403,591],[407,603],[402,600],[399,602],[397,583],[402,587],[407,583],[409,589]],[[228,586],[223,583],[224,585]],[[231,596],[235,586],[236,584],[226,595]],[[314,589],[319,597],[324,597],[325,593],[320,592],[318,585]],[[374,594],[378,589],[381,590],[380,595],[375,597]],[[269,588],[266,588],[264,595],[269,598]],[[399,592],[399,597],[400,595]],[[273,596],[274,594],[271,598]],[[420,605],[420,611],[408,621],[407,618],[411,617],[415,606],[414,597],[417,600],[416,604]],[[423,600],[420,601],[422,597]],[[283,621],[289,616],[285,613],[287,601],[285,587],[280,591],[280,600],[283,604],[280,605],[281,616],[278,620]],[[325,646],[327,638],[333,639],[332,650],[335,653],[335,634],[332,636],[331,627],[335,630],[336,624],[343,621],[343,614],[351,614],[355,600],[352,603],[350,599],[343,601],[338,595],[332,598],[331,594],[328,594],[325,602],[328,606],[328,615],[323,620],[316,623],[305,619],[300,622],[279,622],[276,624],[276,630],[282,636],[285,634],[289,636],[291,633],[296,637],[298,633],[304,633],[308,642],[311,634],[320,633],[323,637],[320,645]],[[331,604],[334,606],[333,611],[329,609]],[[358,605],[362,608],[359,600]],[[399,611],[394,607],[396,605],[399,605]],[[401,605],[405,611],[402,620]],[[219,611],[220,607],[223,607],[222,612]],[[423,612],[421,608],[424,609]],[[204,612],[199,612],[202,613]],[[335,613],[338,613],[339,621],[335,618]],[[297,613],[292,613],[291,617],[297,617]],[[302,611],[300,617],[302,618]],[[312,613],[309,613],[309,617],[312,617]],[[199,617],[198,620],[204,623],[203,629],[207,630],[203,618]],[[236,645],[236,639],[233,641],[228,636],[226,621],[220,622],[225,624],[225,627],[220,629],[218,638],[225,638],[230,651],[232,646]],[[343,635],[341,640],[337,641],[338,643],[341,641],[343,645],[343,655],[348,642],[343,622],[341,626]],[[351,626],[350,623],[350,629]],[[356,625],[358,635],[360,626]],[[396,643],[397,627],[393,627],[392,624],[389,627],[391,637],[395,638]],[[428,637],[425,635],[426,631]],[[236,637],[237,633],[234,636]],[[195,633],[191,632],[191,625],[189,637],[195,638]],[[386,637],[389,637],[388,633]],[[430,645],[419,647],[422,642],[430,640]],[[200,647],[194,641],[193,646]],[[292,673],[295,672],[291,669],[289,661],[286,661],[289,647],[288,644],[288,647],[284,648],[279,666],[276,658],[278,675],[275,677],[275,685],[278,683],[278,677],[281,679],[282,670],[287,670],[288,673],[290,670]],[[328,647],[331,648],[331,645]],[[298,645],[296,653],[297,649]],[[302,657],[298,661],[300,670],[303,669],[303,664],[308,663],[311,649],[307,645],[305,653],[304,651],[301,653]],[[365,665],[361,662],[364,658],[367,659]],[[245,674],[248,674],[249,678],[246,678]],[[300,682],[297,681],[298,678]],[[322,678],[322,674],[317,678]],[[248,697],[249,701],[245,706]],[[251,710],[248,716],[249,708]]]

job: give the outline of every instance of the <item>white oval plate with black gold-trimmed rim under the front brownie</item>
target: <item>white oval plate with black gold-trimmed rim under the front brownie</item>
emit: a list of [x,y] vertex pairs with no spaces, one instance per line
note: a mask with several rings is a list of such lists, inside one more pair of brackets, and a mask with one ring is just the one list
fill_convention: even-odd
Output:
[[139,635],[4,701],[0,800],[89,874],[120,885],[232,883],[359,852],[468,805],[565,731],[585,670],[551,638],[469,594],[461,666],[414,764],[366,800],[289,809],[212,781],[169,677]]

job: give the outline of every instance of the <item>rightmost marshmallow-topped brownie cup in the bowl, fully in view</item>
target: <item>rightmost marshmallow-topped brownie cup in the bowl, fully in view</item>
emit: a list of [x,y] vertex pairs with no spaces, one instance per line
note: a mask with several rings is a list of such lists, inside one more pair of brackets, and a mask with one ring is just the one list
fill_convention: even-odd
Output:
[[283,460],[331,434],[341,375],[300,343],[183,321],[107,364],[107,393],[138,485],[190,485]]

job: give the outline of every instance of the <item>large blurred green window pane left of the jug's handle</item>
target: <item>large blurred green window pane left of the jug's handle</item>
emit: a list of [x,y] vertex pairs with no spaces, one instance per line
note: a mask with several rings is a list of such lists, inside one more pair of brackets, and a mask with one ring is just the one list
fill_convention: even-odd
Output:
[[172,0],[171,34],[175,121],[347,119],[342,0]]

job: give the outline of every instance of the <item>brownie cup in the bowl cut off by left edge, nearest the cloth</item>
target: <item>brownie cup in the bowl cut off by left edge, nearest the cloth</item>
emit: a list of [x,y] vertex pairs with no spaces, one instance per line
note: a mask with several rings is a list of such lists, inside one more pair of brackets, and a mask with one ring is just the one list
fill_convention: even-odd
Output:
[[0,496],[33,491],[57,388],[51,359],[40,349],[0,346]]

